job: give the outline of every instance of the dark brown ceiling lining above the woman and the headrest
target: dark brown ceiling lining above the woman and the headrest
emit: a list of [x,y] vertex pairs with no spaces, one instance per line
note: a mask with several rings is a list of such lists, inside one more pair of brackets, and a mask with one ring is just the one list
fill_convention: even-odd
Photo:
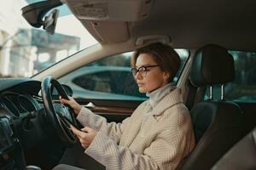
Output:
[[[124,22],[128,37],[118,32],[123,27],[114,26],[114,42],[136,41],[146,35],[169,35],[175,48],[200,48],[207,43],[217,43],[226,48],[256,49],[255,0],[154,0],[151,13],[145,20]],[[90,21],[81,20],[90,33],[99,40],[108,40],[108,28],[96,31]],[[101,22],[98,21],[97,22]],[[102,21],[102,23],[106,21]],[[108,25],[114,22],[108,22]],[[102,31],[103,30],[103,31]],[[118,41],[116,41],[118,40]]]

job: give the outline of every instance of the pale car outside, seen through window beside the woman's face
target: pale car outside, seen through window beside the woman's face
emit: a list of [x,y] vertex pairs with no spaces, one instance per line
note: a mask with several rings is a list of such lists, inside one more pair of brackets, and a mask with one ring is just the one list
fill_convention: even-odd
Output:
[[130,67],[84,66],[61,77],[59,82],[72,87],[73,97],[82,99],[145,100],[138,92]]

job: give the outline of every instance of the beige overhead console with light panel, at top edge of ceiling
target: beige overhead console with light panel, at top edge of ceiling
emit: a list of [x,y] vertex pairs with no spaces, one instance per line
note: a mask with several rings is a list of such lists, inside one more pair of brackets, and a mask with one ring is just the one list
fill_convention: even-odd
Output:
[[153,0],[61,0],[79,20],[136,21],[148,17]]

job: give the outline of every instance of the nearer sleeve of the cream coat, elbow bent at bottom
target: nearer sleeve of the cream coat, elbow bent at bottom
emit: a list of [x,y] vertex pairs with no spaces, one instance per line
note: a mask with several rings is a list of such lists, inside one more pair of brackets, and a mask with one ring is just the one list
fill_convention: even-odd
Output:
[[[175,127],[163,127],[150,141],[143,154],[117,145],[105,133],[98,132],[85,154],[106,166],[107,169],[176,169],[194,145],[193,132],[185,120]],[[169,125],[167,125],[169,126]]]

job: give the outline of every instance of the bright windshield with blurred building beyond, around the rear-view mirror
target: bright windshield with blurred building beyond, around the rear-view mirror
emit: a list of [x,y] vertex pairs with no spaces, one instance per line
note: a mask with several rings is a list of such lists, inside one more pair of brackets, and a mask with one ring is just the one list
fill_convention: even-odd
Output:
[[0,77],[32,77],[61,59],[96,44],[84,26],[62,5],[55,34],[33,28],[21,8],[35,0],[9,0],[0,6]]

